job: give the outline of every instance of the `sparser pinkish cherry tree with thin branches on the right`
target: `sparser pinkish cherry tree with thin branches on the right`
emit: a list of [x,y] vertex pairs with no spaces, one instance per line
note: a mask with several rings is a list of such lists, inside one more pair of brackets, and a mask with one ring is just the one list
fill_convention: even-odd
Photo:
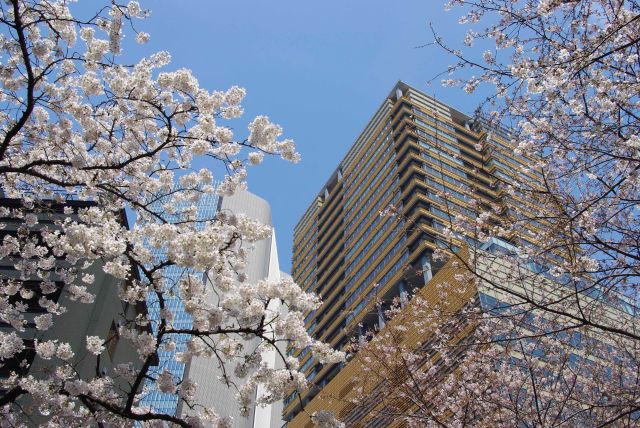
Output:
[[[494,177],[501,196],[492,206],[467,189],[476,218],[448,213],[448,245],[436,257],[456,264],[458,278],[427,283],[438,299],[418,291],[410,310],[398,305],[380,333],[355,346],[349,364],[359,367],[360,389],[328,399],[352,410],[319,420],[637,426],[640,4],[452,0],[447,8],[463,14],[467,31],[458,46],[432,26],[433,45],[455,61],[442,83],[486,90],[476,150],[489,162],[493,134],[507,130],[523,162]],[[491,239],[505,245],[482,257],[510,266],[500,277],[454,251]],[[443,307],[470,285],[502,298],[487,305],[479,293],[467,307]]]

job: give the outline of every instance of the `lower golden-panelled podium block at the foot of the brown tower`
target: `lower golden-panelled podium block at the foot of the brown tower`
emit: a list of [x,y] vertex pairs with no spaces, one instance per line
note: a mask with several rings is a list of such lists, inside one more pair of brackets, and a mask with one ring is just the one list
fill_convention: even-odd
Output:
[[[542,338],[540,327],[553,325],[552,330],[555,330],[560,326],[575,325],[571,317],[579,316],[584,308],[589,308],[594,315],[597,313],[604,325],[637,327],[637,308],[628,310],[631,309],[631,302],[622,296],[618,302],[602,301],[589,293],[575,296],[570,288],[536,275],[534,271],[527,271],[517,259],[502,257],[501,252],[505,249],[509,249],[509,244],[492,239],[482,249],[467,245],[457,253],[457,257],[450,257],[433,278],[416,291],[414,299],[406,302],[372,342],[355,354],[306,404],[305,411],[299,412],[287,426],[312,428],[314,424],[310,415],[320,411],[335,415],[346,427],[525,426],[527,423],[523,421],[527,420],[527,416],[520,416],[522,419],[517,421],[508,419],[508,423],[491,411],[478,414],[475,409],[467,409],[468,419],[464,416],[466,412],[454,416],[451,407],[448,407],[451,403],[447,403],[444,396],[452,395],[462,402],[468,393],[464,382],[473,384],[471,389],[476,393],[482,390],[478,385],[489,386],[488,397],[478,394],[474,398],[480,402],[488,398],[491,403],[500,403],[493,408],[496,413],[509,409],[505,413],[518,418],[518,410],[523,415],[527,413],[525,397],[528,394],[529,398],[536,395],[532,391],[532,384],[527,382],[529,376],[538,381],[550,376],[574,386],[559,389],[555,382],[546,385],[537,382],[537,394],[545,396],[539,403],[544,406],[545,414],[551,413],[558,421],[568,422],[571,426],[599,425],[594,423],[599,420],[597,411],[592,412],[593,409],[589,408],[589,403],[593,403],[590,401],[593,400],[592,393],[596,392],[597,397],[599,388],[610,393],[619,391],[619,385],[634,384],[637,376],[633,373],[637,366],[633,362],[637,360],[633,357],[620,358],[628,349],[633,349],[633,344],[626,341],[626,345],[629,345],[626,348],[625,342],[607,339],[594,329],[564,331],[560,328],[557,334],[549,332]],[[465,263],[460,263],[468,263],[471,259],[482,277],[477,283],[468,280],[469,270]],[[496,287],[496,284],[499,286]],[[528,296],[533,303],[518,295]],[[575,301],[572,300],[574,297]],[[567,301],[572,303],[559,303]],[[567,315],[554,315],[554,310]],[[488,319],[491,321],[488,322],[492,324],[492,334],[506,334],[513,339],[493,343],[479,339],[475,333],[478,323],[482,322],[482,314],[490,314]],[[544,319],[545,322],[513,321],[518,316],[523,319]],[[499,326],[505,320],[513,321],[507,330],[504,325]],[[507,323],[511,324],[509,321]],[[552,351],[550,343],[560,345],[562,351]],[[608,354],[611,351],[605,350],[613,347],[626,351],[610,359],[613,352]],[[480,355],[495,351],[496,348],[499,349],[497,355],[500,361],[509,362],[507,366],[510,371],[506,373],[510,376],[515,373],[515,377],[520,375],[519,379],[523,381],[516,383],[515,388],[511,386],[512,394],[514,391],[522,393],[513,402],[505,399],[509,393],[501,394],[495,389],[504,387],[509,390],[509,382],[501,383],[501,376],[505,372],[498,371],[501,364],[496,359],[482,360],[483,369],[480,370],[481,375],[496,376],[495,383],[484,383],[484,378],[474,371],[478,370],[478,366],[469,369],[467,365],[473,365],[474,359],[477,364]],[[406,355],[405,350],[411,350],[411,357],[403,359],[394,355],[400,352]],[[475,353],[469,359],[470,350]],[[543,350],[549,351],[553,357]],[[413,363],[407,366],[407,360]],[[628,365],[625,367],[625,364]],[[523,370],[523,367],[528,369]],[[576,375],[577,378],[574,377]],[[452,390],[451,382],[455,390]],[[535,385],[536,380],[532,382]],[[595,388],[594,382],[598,385]],[[607,397],[607,394],[603,393],[602,397]],[[563,401],[565,398],[566,401]],[[624,398],[621,401],[624,402]],[[598,409],[600,402],[598,399],[595,402],[595,408]],[[613,399],[609,405],[613,407],[615,402]],[[461,416],[467,423],[460,423]],[[448,419],[454,417],[457,419]],[[635,422],[631,425],[635,426],[639,417],[635,414],[632,418]],[[563,425],[562,422],[559,424]]]

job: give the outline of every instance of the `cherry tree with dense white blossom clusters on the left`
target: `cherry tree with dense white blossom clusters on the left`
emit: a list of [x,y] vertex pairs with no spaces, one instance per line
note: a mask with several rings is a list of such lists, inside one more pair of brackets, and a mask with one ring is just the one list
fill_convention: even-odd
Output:
[[[158,350],[175,346],[172,334],[189,338],[181,355],[185,361],[207,356],[242,374],[245,383],[235,392],[245,406],[257,384],[266,391],[257,400],[269,403],[306,383],[293,358],[281,355],[285,368],[280,370],[261,363],[261,352],[278,341],[309,346],[321,361],[342,358],[305,331],[302,313],[319,304],[315,296],[290,280],[245,282],[247,245],[267,238],[269,228],[241,215],[203,219],[197,214],[205,195],[244,187],[247,167],[265,155],[290,162],[299,155],[266,116],[251,120],[245,136],[232,130],[243,113],[244,89],[204,89],[191,71],[166,70],[166,52],[134,64],[119,62],[125,34],[138,43],[149,40],[135,28],[135,21],[147,15],[138,2],[114,1],[83,17],[72,15],[70,3],[10,0],[0,5],[0,186],[6,198],[21,201],[1,213],[19,221],[19,233],[4,235],[0,243],[2,259],[18,272],[0,278],[0,320],[10,326],[0,332],[0,364],[33,349],[53,367],[2,379],[2,425],[24,425],[33,416],[29,412],[38,409],[50,426],[134,421],[226,426],[229,421],[216,409],[193,401],[197,385],[168,372],[157,377],[158,389],[178,394],[193,416],[181,419],[140,406],[144,382],[154,379],[147,370]],[[196,162],[203,167],[194,168]],[[212,185],[214,171],[218,189]],[[40,224],[54,205],[65,207],[66,215]],[[132,229],[121,220],[125,209],[136,218]],[[39,341],[39,336],[24,340],[27,315],[21,298],[40,296],[45,311],[35,322],[44,334],[66,309],[51,299],[53,293],[94,304],[88,291],[94,278],[87,272],[96,264],[121,281],[118,295],[124,302],[144,305],[153,295],[160,313],[159,320],[139,313],[119,326],[119,336],[137,349],[139,361],[108,371],[101,364],[106,337],[87,337],[85,349],[55,339]],[[208,281],[189,274],[169,283],[165,270],[172,267],[206,271]],[[26,287],[33,278],[41,289]],[[193,318],[189,329],[175,327],[165,305],[178,290]],[[216,299],[209,298],[211,293]],[[286,315],[268,311],[275,299],[288,308]],[[148,328],[152,322],[153,330]],[[258,349],[243,348],[245,339],[256,337],[262,340]],[[76,373],[80,358],[95,365],[94,377]]]

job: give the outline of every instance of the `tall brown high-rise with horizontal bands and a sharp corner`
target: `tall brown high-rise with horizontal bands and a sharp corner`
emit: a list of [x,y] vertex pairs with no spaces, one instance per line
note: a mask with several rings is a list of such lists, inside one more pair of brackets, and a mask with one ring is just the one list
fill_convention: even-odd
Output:
[[[465,244],[451,245],[443,233],[453,217],[475,220],[479,210],[508,205],[497,182],[530,162],[508,141],[486,121],[397,83],[295,227],[293,278],[323,300],[307,314],[309,333],[344,349],[383,327],[385,302],[421,288],[441,268],[433,252]],[[323,366],[306,350],[290,352],[313,386],[287,397],[287,421],[342,368]]]

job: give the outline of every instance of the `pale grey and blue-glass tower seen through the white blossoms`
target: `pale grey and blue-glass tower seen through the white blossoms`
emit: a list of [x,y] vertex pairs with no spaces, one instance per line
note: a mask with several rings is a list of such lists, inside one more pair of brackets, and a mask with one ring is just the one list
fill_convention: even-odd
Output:
[[[271,208],[262,198],[250,192],[237,190],[232,196],[217,196],[215,194],[204,196],[198,203],[198,219],[214,218],[216,213],[225,212],[230,214],[244,214],[250,218],[260,221],[262,224],[271,225]],[[187,272],[184,269],[171,267],[165,275],[177,282]],[[205,273],[201,273],[205,275]],[[276,248],[275,232],[269,239],[265,239],[253,244],[251,252],[248,254],[246,268],[244,270],[246,281],[255,283],[263,279],[278,280],[281,272],[278,264],[278,253]],[[205,276],[206,278],[206,276]],[[171,281],[169,281],[171,282]],[[209,284],[212,290],[215,284]],[[216,294],[209,293],[210,299],[215,300]],[[157,319],[159,317],[157,304],[153,303],[153,296],[150,296],[150,316]],[[210,302],[217,304],[216,301]],[[191,317],[185,311],[180,296],[167,299],[167,307],[174,313],[174,326],[177,328],[191,328]],[[277,311],[279,308],[270,307]],[[249,415],[243,416],[240,406],[235,397],[235,391],[222,381],[225,373],[219,367],[216,359],[194,357],[186,363],[176,359],[176,354],[186,349],[189,341],[188,335],[178,335],[174,337],[176,347],[172,351],[162,350],[158,353],[159,364],[152,367],[150,373],[159,374],[163,370],[169,370],[176,379],[190,379],[197,383],[198,389],[194,402],[205,408],[214,409],[221,416],[228,416],[234,419],[234,426],[257,428],[257,427],[279,427],[281,425],[281,411],[279,408],[268,406],[266,408],[251,408]],[[255,348],[259,345],[258,338],[252,341],[245,341],[247,349]],[[263,361],[275,366],[277,364],[276,355],[263,355]],[[233,373],[226,373],[231,385],[240,384],[242,381]],[[155,383],[149,382],[146,394],[141,401],[142,405],[154,408],[156,411],[188,416],[191,409],[183,406],[176,394],[163,393],[159,391]],[[275,410],[274,410],[275,409]]]

